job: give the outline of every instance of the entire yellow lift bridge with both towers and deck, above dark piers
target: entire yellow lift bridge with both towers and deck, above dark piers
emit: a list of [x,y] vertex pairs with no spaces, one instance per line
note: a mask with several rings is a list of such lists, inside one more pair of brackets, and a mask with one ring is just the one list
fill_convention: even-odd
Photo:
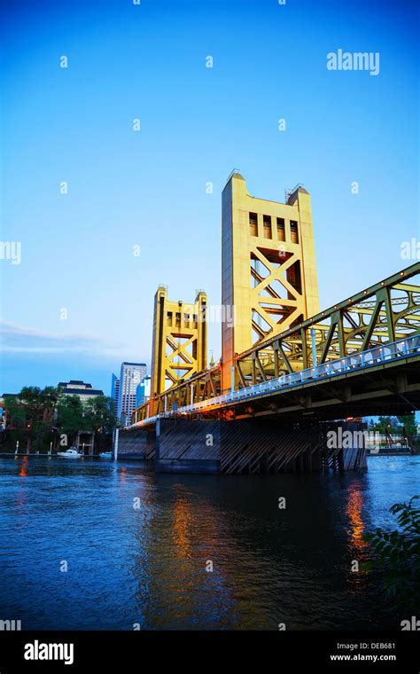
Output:
[[[418,409],[419,275],[420,263],[412,264],[320,311],[307,190],[297,185],[285,203],[256,199],[243,176],[232,173],[222,193],[222,358],[206,367],[212,311],[206,293],[192,304],[170,302],[159,286],[152,395],[134,411],[130,430],[158,428],[161,435],[164,420],[172,420],[173,432],[177,419],[195,422],[185,427],[189,435],[198,421],[276,419],[279,428]],[[231,433],[233,426],[227,428]],[[260,425],[256,443],[262,435]],[[145,458],[154,456],[154,441],[151,446]],[[331,464],[331,455],[326,461]],[[251,464],[239,461],[239,470],[221,472],[244,466]]]

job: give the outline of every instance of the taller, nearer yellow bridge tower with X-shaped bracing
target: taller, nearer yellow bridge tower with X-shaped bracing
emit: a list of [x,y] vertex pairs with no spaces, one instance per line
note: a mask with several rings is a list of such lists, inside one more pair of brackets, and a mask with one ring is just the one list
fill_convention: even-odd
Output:
[[[319,312],[309,193],[286,202],[250,196],[234,172],[222,192],[222,390],[231,385],[235,354]],[[237,385],[237,382],[235,382]]]

